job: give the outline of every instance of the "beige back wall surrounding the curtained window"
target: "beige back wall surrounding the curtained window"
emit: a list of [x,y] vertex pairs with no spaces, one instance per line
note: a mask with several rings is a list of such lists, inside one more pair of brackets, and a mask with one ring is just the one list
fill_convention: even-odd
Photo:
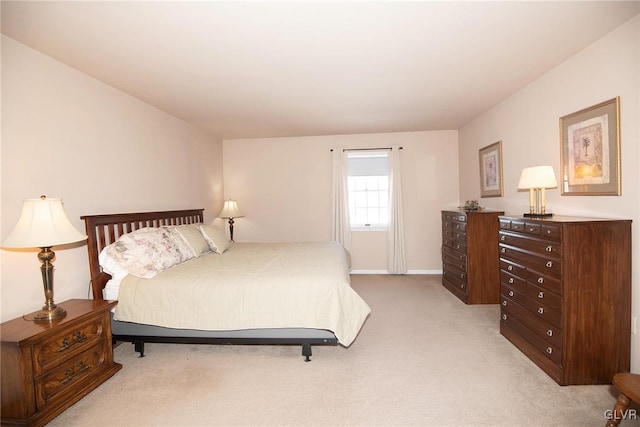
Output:
[[[440,210],[458,203],[457,131],[224,141],[225,198],[246,215],[237,241],[331,239],[332,147],[400,145],[409,270],[438,272]],[[354,270],[386,271],[386,233],[354,232]]]

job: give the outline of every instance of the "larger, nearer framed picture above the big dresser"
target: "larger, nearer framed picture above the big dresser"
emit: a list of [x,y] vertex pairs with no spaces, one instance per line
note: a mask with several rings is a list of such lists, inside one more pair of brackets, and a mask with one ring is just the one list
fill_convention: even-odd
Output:
[[560,118],[563,196],[619,196],[620,98]]

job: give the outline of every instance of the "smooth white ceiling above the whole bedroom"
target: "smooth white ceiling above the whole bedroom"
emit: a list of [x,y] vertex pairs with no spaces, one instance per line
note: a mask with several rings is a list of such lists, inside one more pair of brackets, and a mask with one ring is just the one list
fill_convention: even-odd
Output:
[[2,33],[222,139],[457,129],[640,1],[2,1]]

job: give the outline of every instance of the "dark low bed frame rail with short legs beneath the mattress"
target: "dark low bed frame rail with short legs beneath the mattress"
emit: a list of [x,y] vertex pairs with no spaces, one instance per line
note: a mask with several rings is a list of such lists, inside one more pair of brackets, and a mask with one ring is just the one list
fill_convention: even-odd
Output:
[[[274,338],[179,338],[179,337],[140,337],[131,335],[117,335],[113,337],[113,343],[117,341],[130,342],[134,346],[134,350],[140,353],[139,357],[144,357],[144,344],[145,342],[151,343],[172,343],[172,344],[226,344],[226,345],[302,345],[302,356],[305,358],[305,362],[311,362],[311,345],[337,345],[335,342],[318,339],[318,340],[306,340],[300,342],[300,340],[291,339],[274,339]],[[308,341],[308,342],[307,342]]]

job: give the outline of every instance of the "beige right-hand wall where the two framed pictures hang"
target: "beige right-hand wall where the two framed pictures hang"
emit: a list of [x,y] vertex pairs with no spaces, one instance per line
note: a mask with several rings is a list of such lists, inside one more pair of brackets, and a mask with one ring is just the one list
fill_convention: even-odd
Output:
[[[545,74],[460,129],[460,199],[479,197],[478,149],[502,140],[505,196],[483,204],[509,213],[528,211],[518,192],[523,168],[551,165],[560,178],[559,118],[620,97],[622,196],[561,196],[547,191],[558,214],[633,220],[633,265],[640,265],[640,16]],[[632,316],[640,317],[640,269],[633,268]],[[640,339],[632,336],[632,369],[640,371]]]

